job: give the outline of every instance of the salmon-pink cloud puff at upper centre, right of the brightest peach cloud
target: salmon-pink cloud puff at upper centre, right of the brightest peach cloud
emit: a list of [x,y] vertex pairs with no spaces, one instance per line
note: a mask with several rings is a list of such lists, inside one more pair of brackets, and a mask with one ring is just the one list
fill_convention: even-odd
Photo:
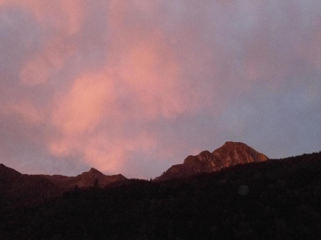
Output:
[[113,67],[123,69],[119,79],[134,92],[139,112],[145,118],[175,118],[188,104],[182,91],[184,86],[180,85],[180,67],[170,57],[161,37],[153,38],[133,44],[120,65]]

